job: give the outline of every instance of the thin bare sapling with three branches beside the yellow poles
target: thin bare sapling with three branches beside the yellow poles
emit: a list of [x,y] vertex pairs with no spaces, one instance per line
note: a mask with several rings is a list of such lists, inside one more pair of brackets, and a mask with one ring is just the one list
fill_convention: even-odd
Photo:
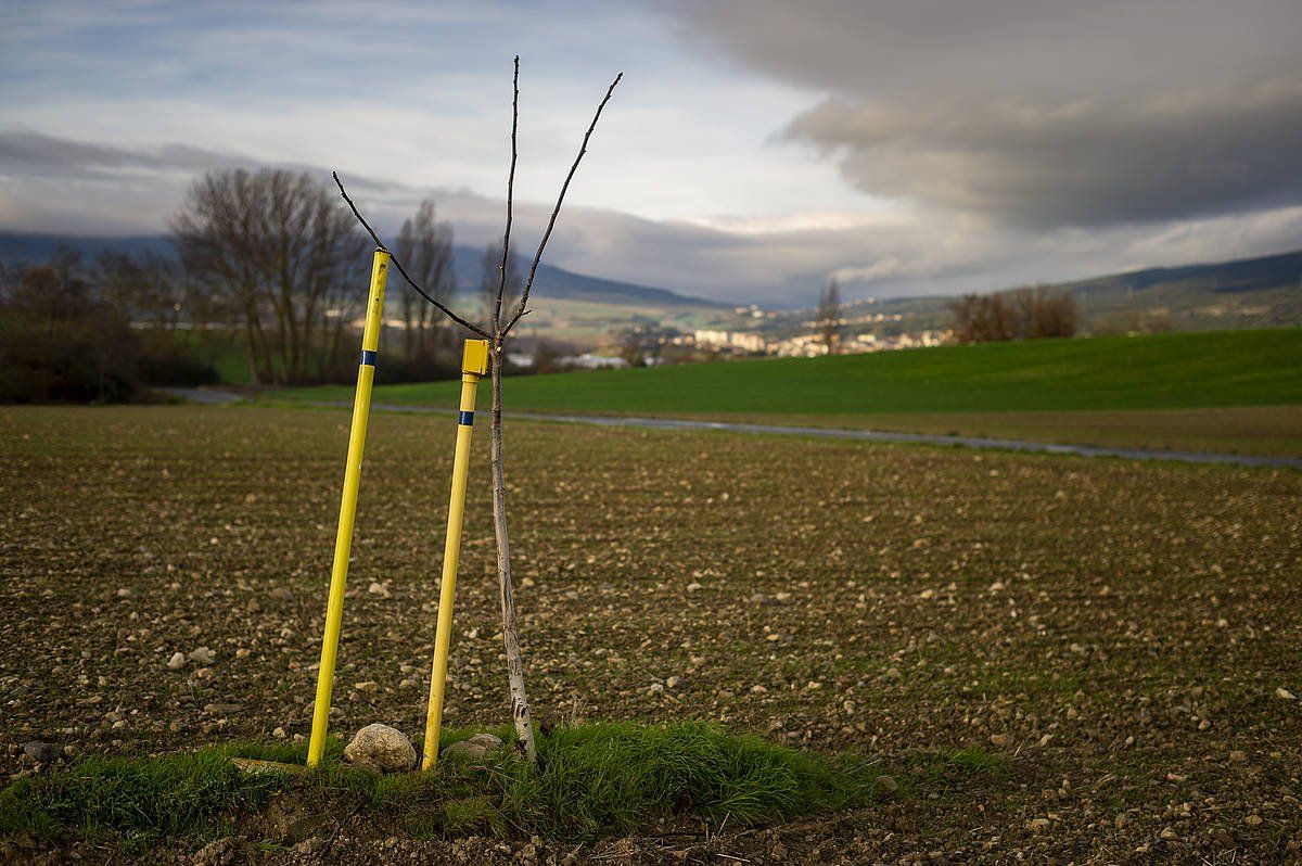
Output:
[[[492,422],[490,427],[490,453],[492,461],[492,516],[493,531],[497,539],[497,587],[501,596],[501,634],[506,650],[506,680],[510,686],[510,714],[512,721],[516,727],[516,746],[530,763],[538,762],[538,749],[534,741],[534,723],[529,715],[529,695],[525,690],[525,663],[519,650],[519,628],[516,620],[516,596],[510,578],[510,539],[506,527],[506,475],[503,464],[501,436],[501,371],[503,362],[506,357],[506,340],[510,336],[512,328],[514,328],[516,324],[518,324],[519,320],[531,311],[529,306],[529,296],[534,288],[534,277],[538,275],[538,264],[543,258],[543,251],[547,249],[547,242],[552,237],[552,229],[556,228],[556,217],[560,216],[561,206],[565,202],[565,193],[569,190],[570,181],[574,180],[574,173],[578,171],[578,165],[583,160],[583,155],[587,154],[587,145],[592,137],[592,132],[596,129],[598,121],[602,119],[602,111],[605,108],[605,104],[611,102],[611,96],[615,94],[615,87],[622,78],[624,73],[617,74],[615,81],[611,82],[611,86],[607,87],[605,96],[602,98],[602,102],[596,107],[596,112],[592,115],[592,122],[589,124],[587,132],[583,133],[583,142],[579,145],[578,155],[574,158],[574,163],[570,165],[569,173],[565,176],[565,182],[561,184],[561,190],[556,197],[556,206],[552,208],[551,217],[547,220],[547,228],[543,230],[543,236],[538,241],[538,249],[534,251],[533,263],[529,266],[529,273],[525,277],[523,288],[519,290],[519,298],[516,301],[513,310],[508,307],[508,313],[505,315],[503,314],[506,288],[512,276],[510,229],[514,219],[516,161],[518,158],[517,133],[519,128],[518,56],[516,57],[514,74],[512,76],[510,169],[506,175],[506,227],[503,230],[501,259],[497,266],[497,290],[493,297],[492,309],[488,310],[488,320],[483,327],[480,327],[474,322],[457,315],[448,309],[441,300],[431,296],[424,290],[424,288],[417,284],[397,257],[392,258],[393,267],[402,276],[402,279],[406,280],[408,285],[417,292],[417,294],[432,303],[440,313],[447,315],[466,331],[488,340],[490,356],[492,361]],[[348,202],[353,215],[375,241],[375,245],[385,251],[389,251],[380,240],[379,234],[375,233],[362,216],[361,211],[358,211],[353,199],[349,198],[348,190],[344,189],[344,184],[340,181],[337,172],[335,173],[335,184],[339,185],[340,195],[342,195],[344,201]],[[514,294],[514,292],[512,292],[512,294]]]

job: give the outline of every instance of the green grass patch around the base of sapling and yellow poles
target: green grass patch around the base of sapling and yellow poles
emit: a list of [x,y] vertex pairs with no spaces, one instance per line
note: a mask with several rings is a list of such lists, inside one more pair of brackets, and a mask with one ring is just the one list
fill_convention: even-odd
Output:
[[[447,746],[471,732],[448,732]],[[509,732],[503,732],[509,736]],[[0,792],[0,835],[117,837],[145,844],[267,828],[273,800],[336,817],[367,814],[417,837],[638,833],[677,817],[762,824],[885,796],[868,759],[822,757],[704,723],[560,727],[540,734],[538,770],[513,749],[388,776],[327,761],[310,772],[242,772],[232,758],[302,764],[306,744],[234,744],[159,758],[86,758]],[[276,832],[267,831],[271,836]],[[280,839],[270,839],[279,843]]]

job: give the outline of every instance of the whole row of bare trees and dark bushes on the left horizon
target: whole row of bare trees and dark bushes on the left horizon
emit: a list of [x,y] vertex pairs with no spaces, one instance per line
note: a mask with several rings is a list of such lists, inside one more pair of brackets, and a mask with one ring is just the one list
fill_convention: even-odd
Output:
[[[172,237],[176,257],[61,253],[0,272],[0,400],[118,401],[142,396],[142,383],[215,383],[217,356],[233,350],[253,384],[353,374],[371,241],[333,189],[281,169],[210,172]],[[427,290],[452,294],[452,227],[432,202],[402,224],[395,251]],[[454,372],[452,327],[406,292],[389,297],[402,333],[384,346],[384,379]]]

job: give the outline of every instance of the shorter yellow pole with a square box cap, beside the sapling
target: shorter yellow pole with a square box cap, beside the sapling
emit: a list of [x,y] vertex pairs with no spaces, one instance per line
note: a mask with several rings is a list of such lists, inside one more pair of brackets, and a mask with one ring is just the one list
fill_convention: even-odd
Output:
[[430,705],[424,716],[424,755],[422,770],[439,759],[439,731],[443,728],[443,691],[448,678],[448,646],[452,641],[452,599],[457,594],[457,561],[461,557],[461,517],[466,509],[466,475],[470,471],[470,435],[475,423],[475,391],[479,376],[488,372],[488,341],[466,340],[461,358],[461,410],[457,415],[457,451],[452,460],[452,499],[448,503],[448,538],[443,544],[443,580],[439,585],[439,630],[434,637],[434,672],[430,676]]

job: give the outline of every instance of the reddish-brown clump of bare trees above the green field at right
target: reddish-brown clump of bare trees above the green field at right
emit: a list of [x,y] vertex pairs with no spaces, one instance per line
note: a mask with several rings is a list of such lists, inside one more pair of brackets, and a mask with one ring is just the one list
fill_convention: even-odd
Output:
[[1079,322],[1075,298],[1047,285],[965,294],[948,306],[958,342],[1070,337]]

